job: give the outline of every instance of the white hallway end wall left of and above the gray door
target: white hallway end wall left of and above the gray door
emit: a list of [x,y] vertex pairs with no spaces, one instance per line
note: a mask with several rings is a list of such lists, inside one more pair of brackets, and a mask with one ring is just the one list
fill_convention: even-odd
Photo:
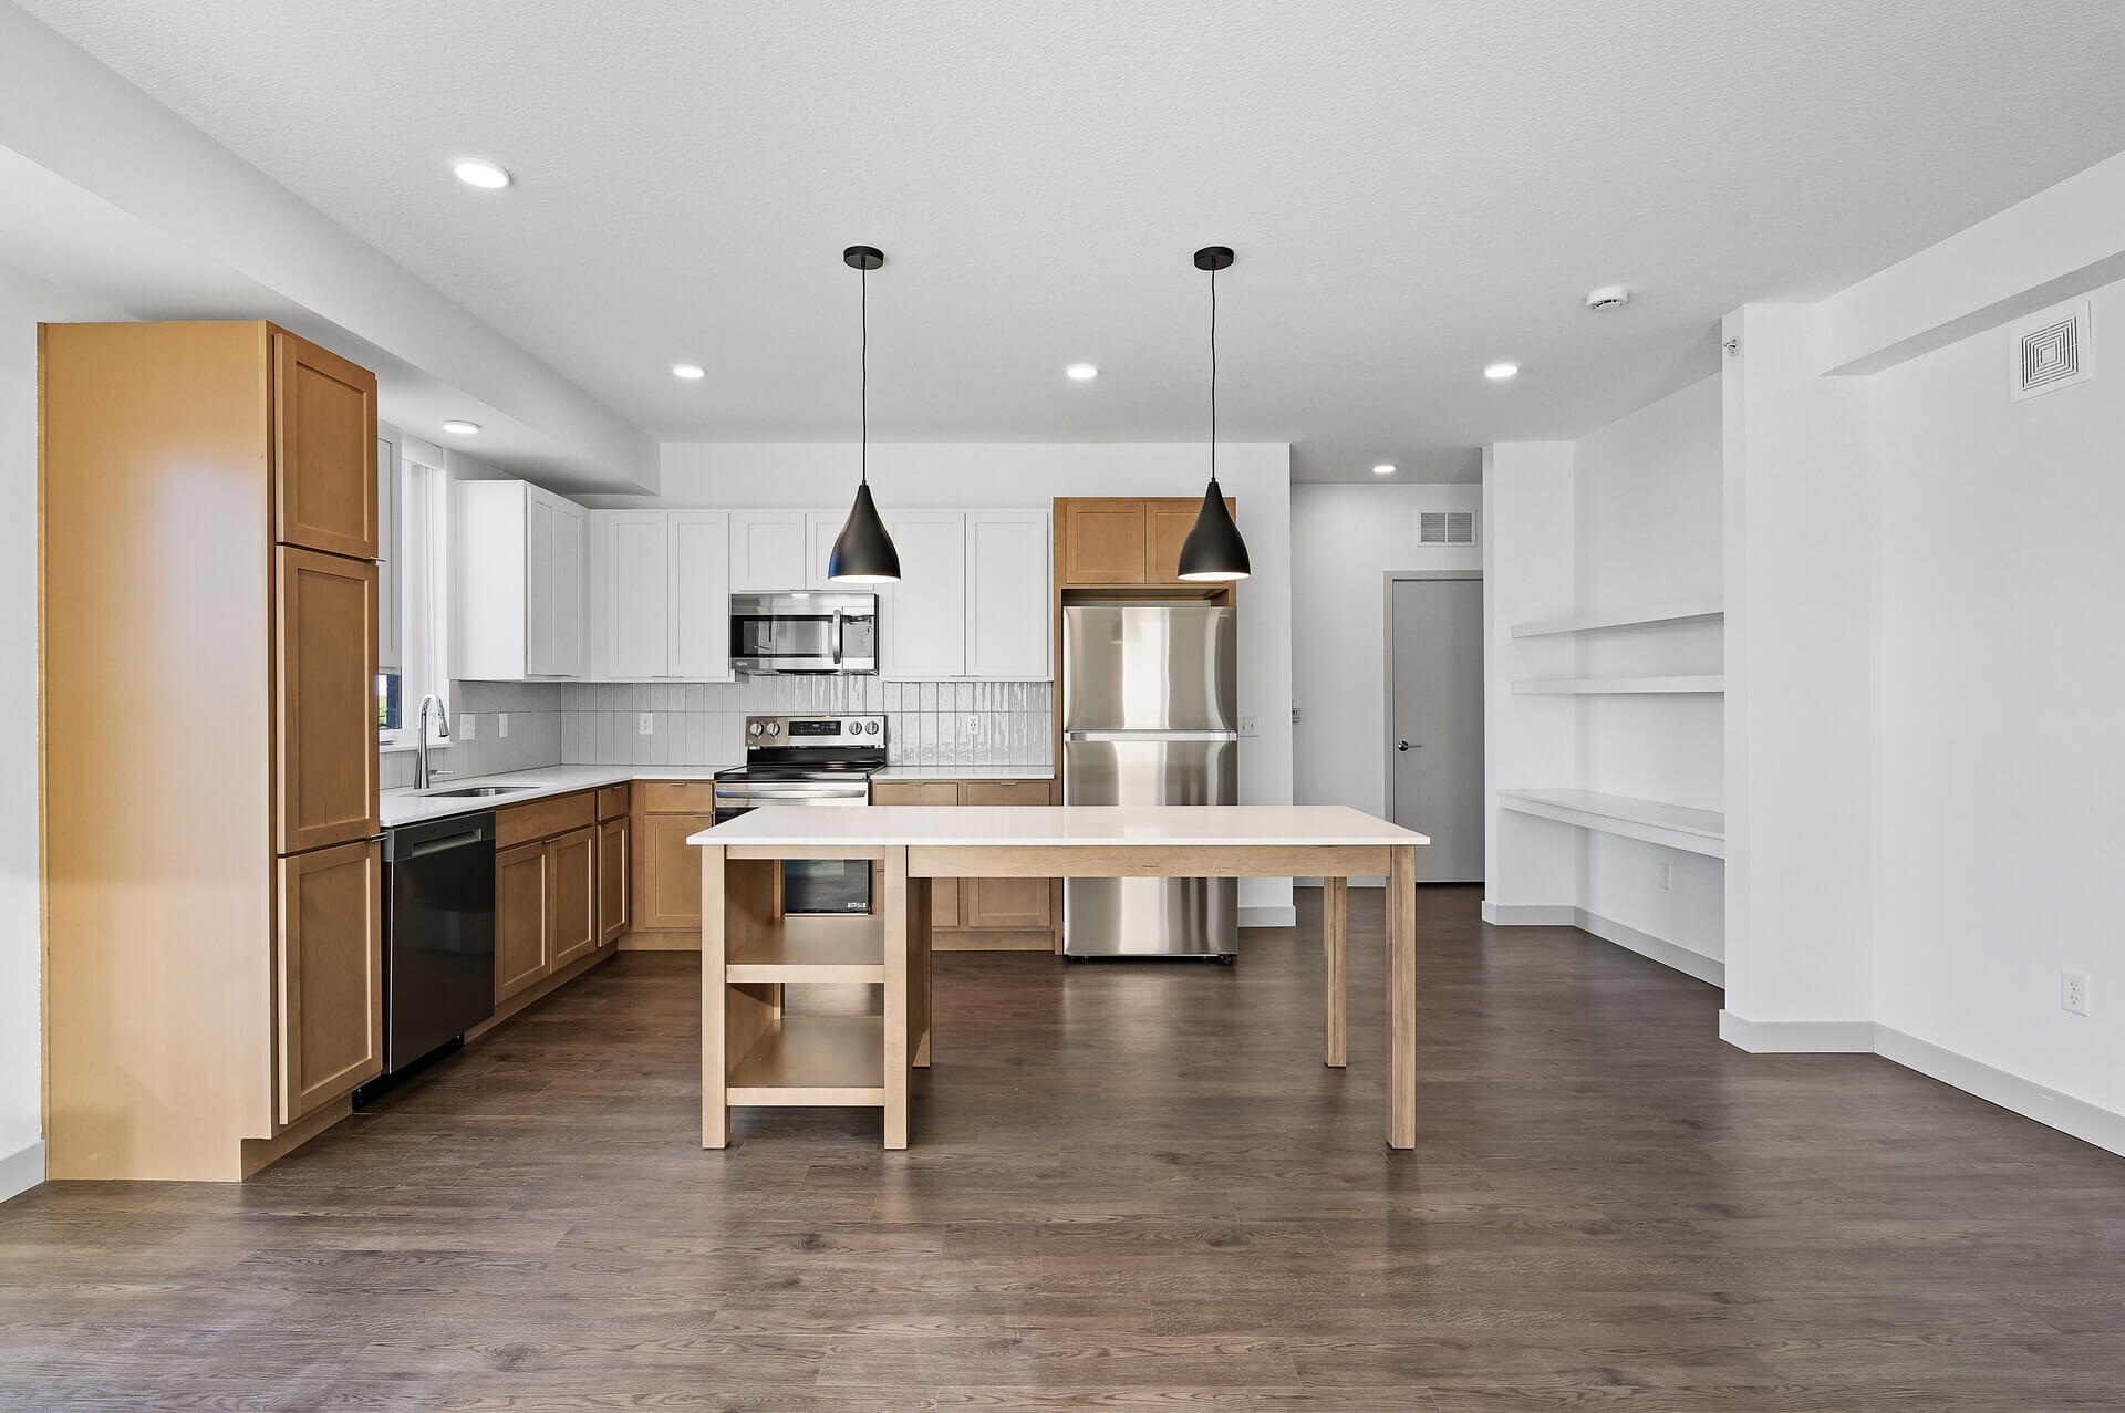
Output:
[[1479,510],[1481,499],[1483,487],[1473,484],[1292,487],[1292,680],[1300,708],[1292,799],[1300,805],[1386,816],[1386,576],[1481,569],[1481,544],[1417,544],[1420,512]]

